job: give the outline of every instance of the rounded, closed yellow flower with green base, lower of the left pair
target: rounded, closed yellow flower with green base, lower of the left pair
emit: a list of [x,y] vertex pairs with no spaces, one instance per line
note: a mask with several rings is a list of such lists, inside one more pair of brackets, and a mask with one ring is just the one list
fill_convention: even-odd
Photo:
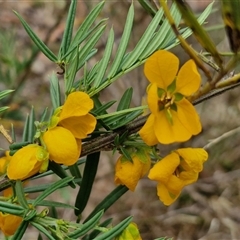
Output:
[[37,145],[29,144],[19,149],[12,157],[7,168],[7,175],[12,180],[23,180],[48,167],[48,153]]

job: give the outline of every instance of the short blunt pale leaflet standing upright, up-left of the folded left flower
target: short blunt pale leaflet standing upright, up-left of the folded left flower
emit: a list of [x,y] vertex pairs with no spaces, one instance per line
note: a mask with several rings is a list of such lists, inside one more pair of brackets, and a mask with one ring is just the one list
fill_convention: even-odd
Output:
[[60,85],[57,75],[53,72],[50,77],[50,96],[52,100],[53,109],[61,106]]

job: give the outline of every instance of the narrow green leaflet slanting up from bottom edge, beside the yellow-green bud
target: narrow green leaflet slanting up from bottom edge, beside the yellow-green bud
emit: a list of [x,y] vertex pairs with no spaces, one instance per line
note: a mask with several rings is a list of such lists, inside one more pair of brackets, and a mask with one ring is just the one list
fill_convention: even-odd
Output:
[[124,219],[121,223],[111,228],[108,232],[96,237],[94,240],[112,240],[114,237],[119,235],[132,221],[132,217]]

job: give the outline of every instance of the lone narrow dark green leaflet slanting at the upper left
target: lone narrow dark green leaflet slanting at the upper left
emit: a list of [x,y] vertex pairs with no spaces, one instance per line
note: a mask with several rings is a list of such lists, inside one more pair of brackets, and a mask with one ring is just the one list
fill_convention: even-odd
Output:
[[52,62],[57,62],[57,57],[55,54],[44,44],[40,38],[33,32],[33,30],[30,28],[30,26],[26,23],[26,21],[15,11],[13,11],[19,20],[21,21],[23,27],[25,28],[26,32],[28,33],[29,37],[32,39],[32,41],[37,45],[37,47],[40,49],[40,51]]

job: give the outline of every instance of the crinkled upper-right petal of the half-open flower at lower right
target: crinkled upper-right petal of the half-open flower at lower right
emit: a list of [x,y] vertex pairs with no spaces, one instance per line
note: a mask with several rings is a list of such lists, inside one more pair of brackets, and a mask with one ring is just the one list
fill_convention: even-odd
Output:
[[183,158],[181,166],[185,171],[201,172],[208,153],[203,148],[181,148],[176,152]]

